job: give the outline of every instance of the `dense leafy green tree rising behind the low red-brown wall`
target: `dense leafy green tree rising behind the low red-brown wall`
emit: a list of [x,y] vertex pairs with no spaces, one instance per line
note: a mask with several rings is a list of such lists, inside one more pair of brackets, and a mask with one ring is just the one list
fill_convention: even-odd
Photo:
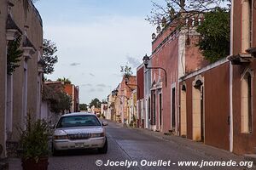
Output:
[[196,29],[201,34],[199,48],[210,62],[230,54],[230,11],[216,8],[205,14],[205,20]]

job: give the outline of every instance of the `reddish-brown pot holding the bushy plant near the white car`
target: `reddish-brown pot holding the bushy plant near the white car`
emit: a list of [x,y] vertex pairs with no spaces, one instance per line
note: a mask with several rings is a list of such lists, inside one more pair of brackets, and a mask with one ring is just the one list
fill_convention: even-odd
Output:
[[34,159],[22,159],[23,170],[47,170],[48,157],[39,158],[38,163]]

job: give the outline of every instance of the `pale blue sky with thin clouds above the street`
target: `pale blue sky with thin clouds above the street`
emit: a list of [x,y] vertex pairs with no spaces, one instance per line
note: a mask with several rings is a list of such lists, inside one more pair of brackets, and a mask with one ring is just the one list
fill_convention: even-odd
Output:
[[58,48],[55,71],[46,77],[66,77],[79,86],[81,104],[107,99],[121,82],[120,65],[136,74],[143,56],[151,54],[149,0],[39,0],[35,6],[44,38]]

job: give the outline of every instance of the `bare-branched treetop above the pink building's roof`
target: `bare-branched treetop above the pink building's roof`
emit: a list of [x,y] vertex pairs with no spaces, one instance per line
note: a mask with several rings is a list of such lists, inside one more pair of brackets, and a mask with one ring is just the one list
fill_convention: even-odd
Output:
[[153,2],[153,8],[146,20],[154,26],[165,27],[183,25],[188,18],[213,11],[215,8],[229,7],[230,0],[165,0],[166,6]]

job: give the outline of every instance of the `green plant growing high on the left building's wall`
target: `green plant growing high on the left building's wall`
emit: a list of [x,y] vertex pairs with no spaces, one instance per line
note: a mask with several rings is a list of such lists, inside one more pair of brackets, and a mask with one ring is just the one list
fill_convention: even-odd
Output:
[[20,62],[20,57],[23,54],[23,51],[20,50],[20,40],[21,37],[17,37],[13,41],[8,42],[8,49],[7,49],[7,74],[12,75],[18,65],[17,63]]

